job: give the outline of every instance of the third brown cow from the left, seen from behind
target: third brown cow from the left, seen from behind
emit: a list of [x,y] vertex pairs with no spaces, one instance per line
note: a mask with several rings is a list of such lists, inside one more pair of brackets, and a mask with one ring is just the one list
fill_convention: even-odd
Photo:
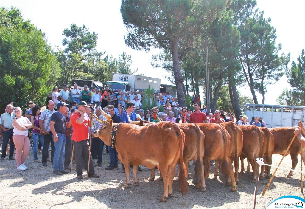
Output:
[[[214,123],[199,123],[197,124],[204,134],[204,176],[205,179],[211,171],[210,160],[221,160],[221,170],[224,174],[231,178],[231,191],[237,190],[237,185],[234,178],[233,166],[230,162],[230,143],[229,133],[222,125]],[[229,182],[226,183],[229,186]]]

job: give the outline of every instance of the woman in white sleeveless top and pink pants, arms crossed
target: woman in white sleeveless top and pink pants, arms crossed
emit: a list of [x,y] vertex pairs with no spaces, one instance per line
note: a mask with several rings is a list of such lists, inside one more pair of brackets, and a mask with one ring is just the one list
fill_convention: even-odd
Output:
[[[32,128],[32,123],[26,117],[23,117],[20,107],[15,108],[16,117],[13,118],[13,142],[16,147],[17,170],[24,171],[27,167],[24,165],[25,159],[30,151],[30,139],[28,130]],[[23,151],[23,153],[22,153]]]

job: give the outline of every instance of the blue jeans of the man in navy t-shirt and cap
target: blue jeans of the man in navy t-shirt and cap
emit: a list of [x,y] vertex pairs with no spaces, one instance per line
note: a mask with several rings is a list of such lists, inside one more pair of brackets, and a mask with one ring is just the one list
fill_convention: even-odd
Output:
[[[53,171],[63,171],[63,156],[65,154],[66,135],[56,132],[58,141],[54,142]],[[54,136],[53,136],[54,141]]]

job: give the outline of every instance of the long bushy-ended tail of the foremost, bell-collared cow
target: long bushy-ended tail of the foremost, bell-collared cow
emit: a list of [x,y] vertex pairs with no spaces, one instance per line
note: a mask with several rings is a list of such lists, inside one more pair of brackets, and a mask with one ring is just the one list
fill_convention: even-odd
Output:
[[187,177],[188,173],[186,171],[186,166],[183,161],[183,146],[184,146],[184,138],[185,135],[181,131],[181,129],[178,127],[177,124],[173,123],[174,130],[178,133],[179,136],[179,154],[180,154],[180,159],[179,159],[179,173],[178,173],[178,182],[179,182],[179,189],[182,192],[182,195],[184,196],[189,188],[188,188],[188,182],[187,182]]

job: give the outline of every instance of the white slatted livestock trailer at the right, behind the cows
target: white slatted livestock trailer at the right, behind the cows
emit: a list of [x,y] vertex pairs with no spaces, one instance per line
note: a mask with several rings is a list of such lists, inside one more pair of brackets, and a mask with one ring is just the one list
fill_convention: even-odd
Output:
[[246,104],[245,114],[249,117],[262,117],[268,128],[297,126],[298,121],[305,124],[305,106],[283,106],[265,104]]

